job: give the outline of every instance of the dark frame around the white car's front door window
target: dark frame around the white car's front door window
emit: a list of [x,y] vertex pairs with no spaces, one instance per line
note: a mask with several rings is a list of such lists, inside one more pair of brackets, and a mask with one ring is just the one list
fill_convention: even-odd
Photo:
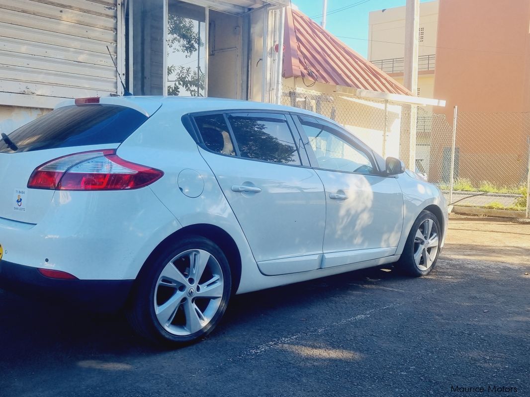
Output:
[[[298,128],[299,134],[302,136],[302,141],[304,142],[305,146],[308,146],[306,148],[306,152],[308,154],[308,157],[310,158],[311,166],[314,169],[320,169],[323,171],[331,171],[331,172],[338,172],[338,173],[345,173],[345,174],[356,174],[356,175],[365,175],[365,176],[382,176],[385,177],[382,170],[379,168],[379,164],[377,159],[374,156],[374,152],[372,149],[370,149],[365,143],[360,141],[358,138],[352,136],[350,132],[348,132],[345,128],[340,127],[340,125],[332,124],[329,121],[323,120],[317,116],[305,114],[305,113],[297,113],[297,112],[291,112],[291,115],[293,116],[293,120],[295,121],[296,127]],[[316,122],[322,124],[324,127],[327,127],[329,130],[326,130],[333,136],[345,141],[348,143],[348,145],[354,147],[355,149],[359,150],[360,152],[363,152],[363,154],[366,155],[370,163],[372,163],[373,171],[369,174],[366,173],[358,173],[353,171],[345,171],[345,170],[339,170],[339,169],[329,169],[329,168],[322,168],[319,166],[318,161],[316,160],[315,152],[313,150],[313,147],[311,146],[311,143],[309,142],[309,138],[307,137],[307,134],[304,130],[304,125],[302,124],[302,121],[299,119],[299,117],[305,117],[308,119],[314,119]],[[311,153],[311,155],[310,155]]]

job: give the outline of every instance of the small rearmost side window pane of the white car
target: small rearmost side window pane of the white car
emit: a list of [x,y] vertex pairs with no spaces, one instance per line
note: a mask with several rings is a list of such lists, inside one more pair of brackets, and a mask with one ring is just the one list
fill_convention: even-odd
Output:
[[235,156],[234,145],[222,114],[196,116],[195,122],[208,149],[223,155]]

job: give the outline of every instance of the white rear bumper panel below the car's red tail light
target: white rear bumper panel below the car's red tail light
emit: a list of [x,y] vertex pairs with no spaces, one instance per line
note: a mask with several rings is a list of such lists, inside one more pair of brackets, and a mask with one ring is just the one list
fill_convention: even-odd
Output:
[[57,191],[36,225],[0,219],[3,260],[80,279],[134,279],[180,225],[148,188]]

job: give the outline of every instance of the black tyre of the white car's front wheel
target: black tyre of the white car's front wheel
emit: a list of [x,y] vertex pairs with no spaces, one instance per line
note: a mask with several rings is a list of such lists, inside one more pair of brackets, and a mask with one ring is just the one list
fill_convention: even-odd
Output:
[[[432,222],[434,222],[434,224],[436,225],[436,230],[438,233],[438,249],[436,250],[436,255],[434,257],[434,260],[432,261],[432,264],[429,267],[423,269],[422,267],[425,266],[421,266],[421,264],[420,266],[418,266],[416,264],[416,260],[414,259],[414,252],[418,252],[418,243],[415,243],[415,240],[417,231],[420,230],[421,232],[420,226],[423,225],[423,223],[426,222],[428,219],[432,220]],[[405,242],[405,247],[403,248],[403,253],[401,254],[400,259],[396,263],[396,268],[401,273],[412,277],[421,277],[428,275],[432,271],[432,269],[434,269],[438,260],[438,255],[440,254],[439,243],[441,242],[441,233],[442,231],[440,228],[440,223],[438,222],[438,218],[436,218],[435,214],[426,210],[421,211],[416,221],[414,221],[412,228],[410,229],[407,242]],[[420,261],[424,260],[425,259],[423,258],[420,259]]]

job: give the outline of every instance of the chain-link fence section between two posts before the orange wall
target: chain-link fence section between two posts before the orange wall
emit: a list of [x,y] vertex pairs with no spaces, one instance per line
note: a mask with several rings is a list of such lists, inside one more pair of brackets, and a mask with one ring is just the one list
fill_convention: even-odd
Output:
[[526,207],[530,113],[458,112],[453,201]]

